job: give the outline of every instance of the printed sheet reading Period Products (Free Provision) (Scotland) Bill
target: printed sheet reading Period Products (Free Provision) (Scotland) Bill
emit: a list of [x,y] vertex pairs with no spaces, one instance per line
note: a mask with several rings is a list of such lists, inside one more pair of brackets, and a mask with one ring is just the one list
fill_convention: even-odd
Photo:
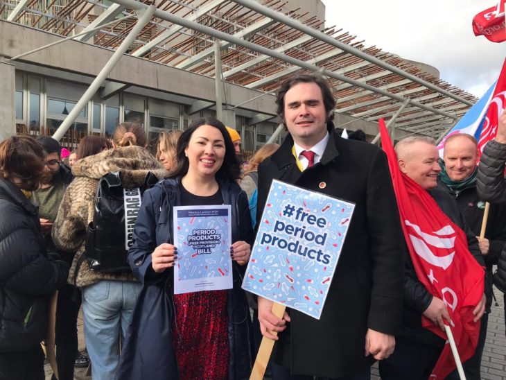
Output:
[[174,207],[174,293],[232,288],[230,205]]

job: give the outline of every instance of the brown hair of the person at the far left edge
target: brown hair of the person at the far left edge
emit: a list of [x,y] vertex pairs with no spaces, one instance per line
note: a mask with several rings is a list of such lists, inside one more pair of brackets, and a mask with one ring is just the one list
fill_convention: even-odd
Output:
[[38,189],[44,175],[46,154],[42,146],[28,136],[12,136],[0,143],[0,175],[12,181],[21,180],[16,186],[33,191]]

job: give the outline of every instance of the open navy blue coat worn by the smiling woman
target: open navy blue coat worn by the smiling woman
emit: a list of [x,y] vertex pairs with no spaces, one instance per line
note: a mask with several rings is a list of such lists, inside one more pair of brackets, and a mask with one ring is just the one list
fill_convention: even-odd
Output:
[[[143,195],[128,252],[133,273],[142,284],[123,345],[116,379],[178,379],[172,346],[173,268],[155,273],[151,253],[173,242],[173,206],[181,205],[181,179],[159,182]],[[252,244],[253,230],[245,193],[235,182],[220,182],[225,205],[232,205],[232,241]],[[247,379],[252,367],[250,310],[241,289],[245,267],[234,261],[234,288],[228,291],[229,379]]]

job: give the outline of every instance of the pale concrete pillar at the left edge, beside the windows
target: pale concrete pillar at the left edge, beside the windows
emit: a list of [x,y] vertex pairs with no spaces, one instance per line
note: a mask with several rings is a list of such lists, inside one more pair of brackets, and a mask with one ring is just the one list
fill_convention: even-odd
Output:
[[0,57],[0,141],[16,134],[15,67]]

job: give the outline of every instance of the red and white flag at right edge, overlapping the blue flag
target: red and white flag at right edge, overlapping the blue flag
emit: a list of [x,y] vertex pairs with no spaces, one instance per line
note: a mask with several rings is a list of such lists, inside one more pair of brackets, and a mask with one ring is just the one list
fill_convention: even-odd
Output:
[[[504,14],[504,12],[503,12]],[[506,60],[503,63],[503,69],[499,74],[494,95],[492,95],[489,110],[485,115],[483,126],[481,128],[480,137],[478,138],[478,148],[480,153],[483,152],[485,144],[491,139],[495,139],[497,128],[499,126],[499,116],[506,107]]]

